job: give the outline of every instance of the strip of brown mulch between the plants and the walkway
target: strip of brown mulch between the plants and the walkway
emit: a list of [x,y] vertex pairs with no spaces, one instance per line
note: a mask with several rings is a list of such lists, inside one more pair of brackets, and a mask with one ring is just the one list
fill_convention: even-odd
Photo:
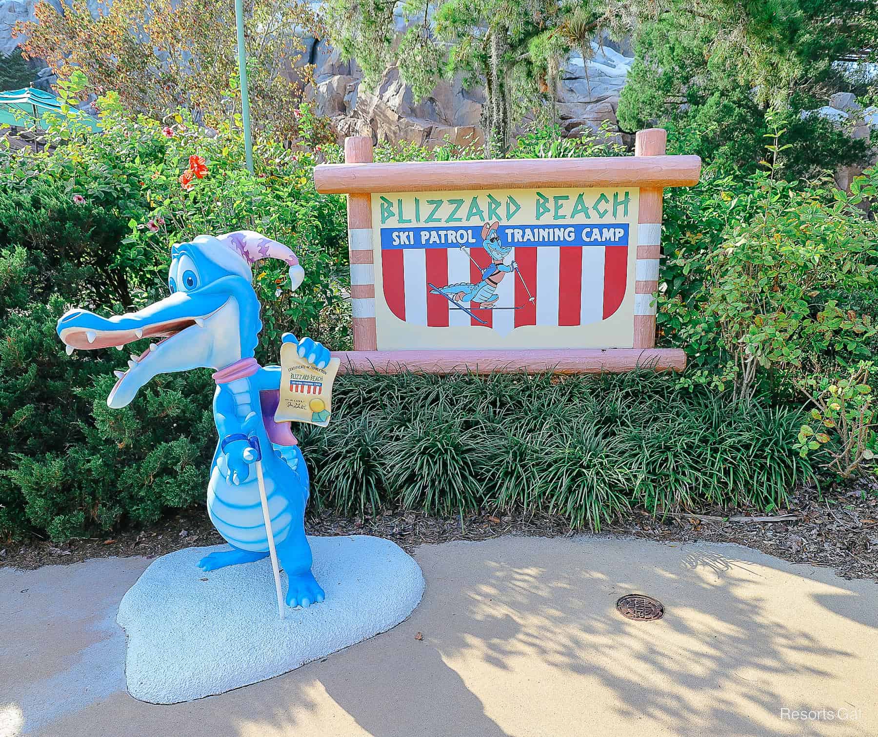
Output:
[[[364,520],[328,511],[309,515],[313,535],[368,534],[388,538],[411,553],[425,543],[485,540],[500,535],[570,536],[563,519],[551,515],[504,515],[483,512],[455,517],[430,517],[421,512],[384,510]],[[824,489],[821,497],[803,489],[788,510],[760,513],[700,509],[698,513],[652,517],[633,510],[605,525],[601,532],[662,542],[723,542],[752,547],[794,563],[831,567],[847,579],[878,582],[878,484]],[[0,567],[35,568],[77,563],[90,558],[142,555],[155,558],[183,547],[223,543],[205,510],[192,509],[166,517],[153,527],[125,531],[107,538],[74,539],[62,545],[34,538],[0,547]]]

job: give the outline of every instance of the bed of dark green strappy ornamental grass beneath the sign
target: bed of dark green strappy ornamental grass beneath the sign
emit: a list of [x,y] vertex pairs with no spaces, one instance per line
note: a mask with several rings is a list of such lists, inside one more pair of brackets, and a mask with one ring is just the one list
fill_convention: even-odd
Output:
[[774,509],[827,459],[792,451],[800,408],[651,372],[345,375],[333,400],[329,427],[299,440],[315,503],[344,514],[499,509],[600,529],[632,507]]

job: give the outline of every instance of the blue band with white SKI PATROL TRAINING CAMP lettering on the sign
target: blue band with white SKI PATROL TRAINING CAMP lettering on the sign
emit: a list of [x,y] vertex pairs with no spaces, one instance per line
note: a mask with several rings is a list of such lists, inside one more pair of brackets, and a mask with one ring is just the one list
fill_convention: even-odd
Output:
[[[450,249],[482,245],[479,228],[381,228],[382,249]],[[501,225],[504,246],[627,246],[628,223],[608,225]]]

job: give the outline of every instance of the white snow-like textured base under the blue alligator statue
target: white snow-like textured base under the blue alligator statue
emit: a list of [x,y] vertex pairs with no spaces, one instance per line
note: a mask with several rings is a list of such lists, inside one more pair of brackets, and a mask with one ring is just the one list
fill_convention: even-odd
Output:
[[284,607],[283,619],[268,558],[210,573],[198,561],[229,546],[189,547],[154,560],[116,618],[128,638],[128,693],[176,704],[264,681],[386,632],[421,601],[421,568],[390,540],[308,541],[327,599]]

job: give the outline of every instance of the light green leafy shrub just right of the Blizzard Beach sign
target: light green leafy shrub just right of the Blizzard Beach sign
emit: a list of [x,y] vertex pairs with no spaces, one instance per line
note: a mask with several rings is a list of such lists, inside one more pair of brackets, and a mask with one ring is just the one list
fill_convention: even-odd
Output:
[[876,191],[876,170],[850,194],[758,172],[709,175],[672,199],[658,323],[689,354],[684,380],[788,399],[802,379],[868,358],[874,303],[851,296],[878,290],[878,224],[860,210]]

